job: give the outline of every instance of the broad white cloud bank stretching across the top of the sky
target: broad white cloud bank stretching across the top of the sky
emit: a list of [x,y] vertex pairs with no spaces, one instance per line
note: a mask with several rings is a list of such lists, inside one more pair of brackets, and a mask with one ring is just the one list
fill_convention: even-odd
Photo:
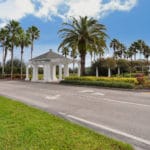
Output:
[[39,18],[89,16],[101,18],[113,11],[129,11],[138,0],[3,0],[0,1],[0,26],[8,20],[33,15]]

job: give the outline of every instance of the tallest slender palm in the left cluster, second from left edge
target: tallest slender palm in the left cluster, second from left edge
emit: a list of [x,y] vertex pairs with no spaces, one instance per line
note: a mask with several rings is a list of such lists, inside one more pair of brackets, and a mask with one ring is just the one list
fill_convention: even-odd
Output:
[[10,51],[11,51],[11,79],[13,79],[14,47],[16,46],[18,32],[21,29],[20,23],[15,20],[11,20],[6,25],[6,29],[9,32],[9,44],[10,44]]

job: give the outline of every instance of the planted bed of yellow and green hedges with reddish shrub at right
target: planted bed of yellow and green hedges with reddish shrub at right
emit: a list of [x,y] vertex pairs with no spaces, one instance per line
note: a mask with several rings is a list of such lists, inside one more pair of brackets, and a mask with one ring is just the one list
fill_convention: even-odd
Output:
[[[125,78],[125,77],[66,77],[63,81],[63,84],[73,84],[73,85],[90,85],[90,86],[99,86],[99,87],[113,87],[113,88],[143,88],[149,86],[149,80],[146,80],[144,77],[137,78]],[[148,85],[147,85],[148,84]]]

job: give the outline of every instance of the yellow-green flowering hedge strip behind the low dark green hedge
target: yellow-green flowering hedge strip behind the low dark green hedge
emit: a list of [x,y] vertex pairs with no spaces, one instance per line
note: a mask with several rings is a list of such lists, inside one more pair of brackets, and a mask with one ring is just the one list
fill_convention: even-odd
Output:
[[66,81],[105,81],[105,82],[121,82],[121,83],[132,83],[132,84],[138,84],[138,81],[136,78],[120,78],[120,77],[66,77]]

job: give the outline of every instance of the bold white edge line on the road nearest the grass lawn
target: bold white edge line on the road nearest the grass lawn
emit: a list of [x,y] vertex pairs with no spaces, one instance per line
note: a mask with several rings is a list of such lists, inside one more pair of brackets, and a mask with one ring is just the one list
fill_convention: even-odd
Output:
[[[63,114],[65,114],[65,113],[63,113]],[[101,124],[97,124],[97,123],[94,123],[94,122],[91,122],[91,121],[88,121],[88,120],[85,120],[85,119],[82,119],[82,118],[78,118],[78,117],[76,117],[76,116],[67,115],[67,117],[68,117],[68,118],[71,118],[71,119],[74,119],[74,120],[77,120],[77,121],[80,121],[80,122],[83,122],[83,123],[86,123],[86,124],[89,124],[89,125],[92,125],[92,126],[95,126],[95,127],[99,127],[99,128],[101,128],[101,129],[110,131],[110,132],[115,133],[115,134],[118,134],[118,135],[122,135],[122,136],[124,136],[124,137],[130,138],[130,139],[133,139],[133,140],[136,140],[136,141],[138,141],[138,142],[141,142],[141,143],[150,145],[150,141],[145,140],[145,139],[143,139],[143,138],[140,138],[140,137],[137,137],[137,136],[134,136],[134,135],[131,135],[131,134],[128,134],[128,133],[125,133],[125,132],[116,130],[116,129],[112,129],[112,128],[109,128],[109,127],[107,127],[107,126],[104,126],[104,125],[101,125]]]

